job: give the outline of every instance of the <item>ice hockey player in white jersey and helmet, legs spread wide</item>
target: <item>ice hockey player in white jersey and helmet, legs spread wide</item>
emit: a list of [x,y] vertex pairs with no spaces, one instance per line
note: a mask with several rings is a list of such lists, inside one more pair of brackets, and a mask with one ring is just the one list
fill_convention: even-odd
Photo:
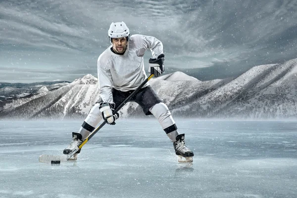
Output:
[[[164,71],[162,43],[152,36],[132,35],[124,22],[111,23],[108,30],[111,43],[98,58],[98,79],[100,99],[93,106],[78,133],[72,133],[72,142],[64,149],[68,154],[78,148],[104,119],[114,125],[118,118],[114,109],[124,101],[147,78],[144,68],[144,54],[151,50],[149,74],[160,76]],[[180,162],[192,162],[194,153],[185,145],[185,134],[179,134],[167,105],[147,83],[130,101],[137,102],[146,115],[154,115],[173,142]],[[79,153],[80,150],[77,152]],[[77,155],[77,153],[75,155]]]

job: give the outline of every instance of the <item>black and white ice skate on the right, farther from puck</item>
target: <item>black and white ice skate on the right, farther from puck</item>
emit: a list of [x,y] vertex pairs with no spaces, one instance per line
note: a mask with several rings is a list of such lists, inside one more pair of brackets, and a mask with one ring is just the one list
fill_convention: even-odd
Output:
[[185,145],[185,134],[180,134],[176,137],[176,142],[173,143],[175,154],[178,156],[178,162],[193,162],[194,152]]

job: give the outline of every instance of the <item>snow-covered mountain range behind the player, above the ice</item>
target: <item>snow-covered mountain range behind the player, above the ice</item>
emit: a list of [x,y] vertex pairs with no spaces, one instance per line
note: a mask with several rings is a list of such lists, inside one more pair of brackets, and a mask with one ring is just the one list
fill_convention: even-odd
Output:
[[[297,117],[297,59],[259,65],[235,79],[199,81],[182,72],[151,79],[172,114],[192,117]],[[99,99],[98,79],[86,75],[59,89],[0,106],[1,118],[85,118]],[[145,116],[134,102],[121,116]]]

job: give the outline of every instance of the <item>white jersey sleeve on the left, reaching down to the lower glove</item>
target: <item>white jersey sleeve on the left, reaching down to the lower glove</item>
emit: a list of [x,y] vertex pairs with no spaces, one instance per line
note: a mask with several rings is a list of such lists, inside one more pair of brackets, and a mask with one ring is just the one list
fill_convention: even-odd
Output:
[[107,61],[104,61],[101,56],[98,58],[98,82],[99,95],[103,102],[113,103],[112,98],[112,76],[110,73],[110,66]]

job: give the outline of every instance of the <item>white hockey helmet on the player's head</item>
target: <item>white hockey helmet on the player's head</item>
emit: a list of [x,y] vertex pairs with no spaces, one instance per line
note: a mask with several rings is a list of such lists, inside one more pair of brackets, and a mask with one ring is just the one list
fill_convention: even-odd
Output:
[[111,23],[109,30],[108,30],[108,37],[110,40],[110,43],[112,43],[111,39],[112,38],[121,38],[121,37],[126,37],[127,41],[129,41],[129,36],[130,36],[130,31],[127,25],[122,21],[122,22],[117,22],[117,23]]

